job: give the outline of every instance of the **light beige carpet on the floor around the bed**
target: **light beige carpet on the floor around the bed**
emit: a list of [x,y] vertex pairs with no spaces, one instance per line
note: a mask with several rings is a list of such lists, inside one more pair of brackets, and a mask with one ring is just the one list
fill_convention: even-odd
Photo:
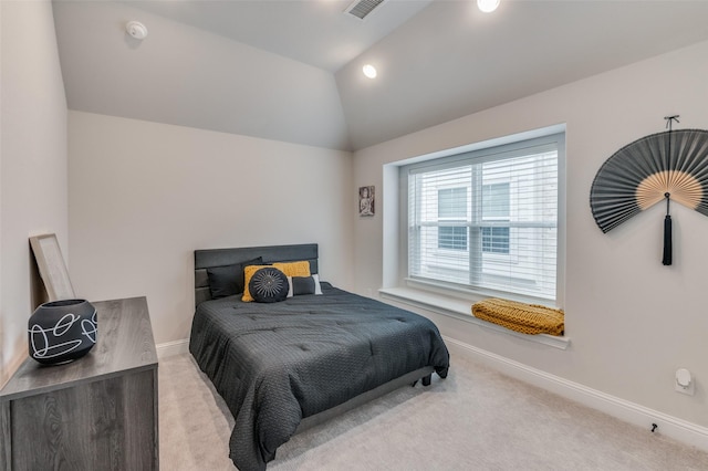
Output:
[[[189,355],[160,360],[160,468],[233,470],[232,418]],[[269,470],[708,470],[708,453],[481,365],[293,437]]]

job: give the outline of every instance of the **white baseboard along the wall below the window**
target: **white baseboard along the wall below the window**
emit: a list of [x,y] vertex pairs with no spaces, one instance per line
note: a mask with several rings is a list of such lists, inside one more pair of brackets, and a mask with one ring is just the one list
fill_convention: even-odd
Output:
[[656,423],[658,427],[655,433],[662,433],[708,451],[708,428],[706,427],[589,388],[454,338],[445,337],[445,343],[451,353],[478,360],[513,378],[645,428],[647,433],[650,433],[652,425]]

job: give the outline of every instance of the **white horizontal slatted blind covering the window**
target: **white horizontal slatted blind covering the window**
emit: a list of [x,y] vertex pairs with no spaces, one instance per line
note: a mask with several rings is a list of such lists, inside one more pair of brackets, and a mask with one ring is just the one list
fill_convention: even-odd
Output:
[[553,137],[404,167],[408,278],[554,301],[559,151]]

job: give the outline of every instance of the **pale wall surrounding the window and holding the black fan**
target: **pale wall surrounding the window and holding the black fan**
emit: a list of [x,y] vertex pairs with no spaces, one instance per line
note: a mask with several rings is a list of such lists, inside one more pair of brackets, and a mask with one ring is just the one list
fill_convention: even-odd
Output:
[[[377,195],[383,195],[378,188],[384,185],[384,164],[550,125],[568,126],[563,307],[571,346],[560,350],[428,313],[445,335],[708,426],[708,218],[673,205],[674,265],[664,266],[665,207],[603,234],[589,205],[590,187],[605,159],[644,135],[664,130],[664,116],[680,114],[679,128],[708,127],[707,56],[708,43],[699,43],[355,153],[354,186],[376,185]],[[385,208],[389,203],[383,201]],[[375,292],[384,270],[382,216],[356,220],[354,233],[355,289]],[[695,396],[674,391],[678,367],[694,373]]]

